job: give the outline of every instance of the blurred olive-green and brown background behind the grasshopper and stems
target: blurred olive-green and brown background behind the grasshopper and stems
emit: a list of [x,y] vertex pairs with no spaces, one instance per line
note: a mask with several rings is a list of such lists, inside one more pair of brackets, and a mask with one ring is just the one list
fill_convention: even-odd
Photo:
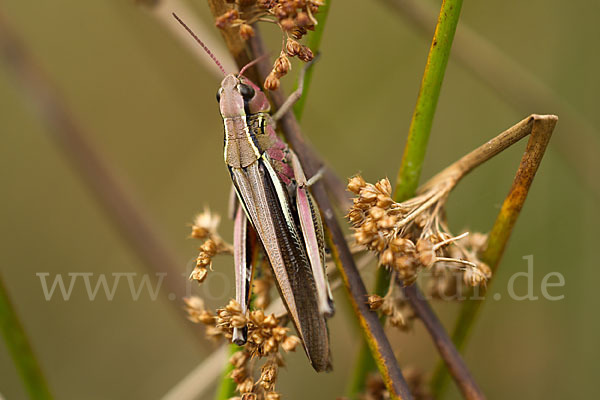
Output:
[[[395,177],[431,40],[383,3],[333,3],[302,123],[341,176],[360,171],[369,181]],[[217,37],[205,2],[187,4]],[[138,207],[152,217],[177,255],[184,281],[197,254],[197,243],[186,239],[187,224],[204,205],[226,214],[230,183],[214,99],[219,79],[132,1],[2,0],[0,13]],[[537,76],[597,133],[598,15],[600,2],[587,0],[466,1],[461,24]],[[263,32],[276,53],[276,28],[265,26]],[[287,77],[283,85],[289,88],[292,82]],[[451,58],[424,178],[529,113],[560,117],[560,110],[515,110]],[[0,132],[0,273],[56,398],[160,398],[213,346],[189,329],[183,314],[176,312],[181,299],[169,300],[165,290],[156,301],[147,295],[133,301],[122,285],[113,301],[102,292],[90,301],[80,281],[69,301],[59,296],[45,301],[38,272],[48,272],[50,278],[69,272],[140,276],[148,269],[4,64]],[[580,132],[559,121],[493,284],[493,291],[503,297],[490,299],[484,307],[465,355],[491,399],[600,395],[595,380],[600,358],[600,269],[594,250],[598,197],[565,158],[559,136],[575,141],[575,149],[597,144],[582,141]],[[523,149],[524,143],[518,144],[459,185],[448,205],[454,231],[489,229]],[[221,232],[226,238],[231,235],[226,218]],[[526,269],[527,255],[534,256],[535,294],[541,296],[543,276],[556,271],[566,284],[551,293],[564,294],[563,300],[508,298],[506,283],[512,273]],[[194,287],[212,307],[233,295],[230,280],[220,279],[223,274],[231,279],[231,260],[217,260],[215,270],[221,275],[212,283],[209,279],[211,289]],[[366,276],[370,280],[372,272]],[[525,290],[521,280],[517,293]],[[285,398],[344,394],[360,340],[343,296],[336,293],[338,313],[330,322],[334,372],[317,375],[302,352],[289,357],[277,385]],[[456,306],[437,309],[451,327]],[[427,370],[435,365],[430,338],[418,322],[409,334],[392,331],[391,340],[402,366]],[[4,342],[0,394],[6,399],[26,397]],[[451,394],[458,397],[454,389]]]

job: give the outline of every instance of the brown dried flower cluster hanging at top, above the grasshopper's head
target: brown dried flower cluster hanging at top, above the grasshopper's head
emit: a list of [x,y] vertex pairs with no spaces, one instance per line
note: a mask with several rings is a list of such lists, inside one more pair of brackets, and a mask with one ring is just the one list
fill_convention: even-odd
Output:
[[236,0],[233,8],[216,19],[221,29],[239,26],[240,36],[247,40],[254,36],[251,24],[257,21],[277,23],[284,34],[285,44],[267,76],[264,87],[277,90],[280,79],[291,70],[288,57],[298,57],[304,62],[314,58],[311,49],[298,42],[309,30],[314,30],[314,15],[323,0]]

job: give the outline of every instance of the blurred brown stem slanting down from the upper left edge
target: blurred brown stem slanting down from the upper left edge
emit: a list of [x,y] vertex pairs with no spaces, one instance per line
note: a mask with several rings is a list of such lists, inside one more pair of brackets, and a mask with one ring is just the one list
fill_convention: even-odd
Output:
[[[6,19],[0,15],[0,59],[13,74],[26,100],[52,130],[49,137],[80,173],[82,182],[94,194],[109,220],[129,243],[142,263],[156,273],[167,273],[166,290],[181,299],[186,295],[181,262],[130,195],[118,174],[88,139],[89,134],[75,121],[58,91],[45,76]],[[51,133],[51,134],[50,134]],[[179,303],[170,302],[182,313]],[[182,318],[183,321],[183,318]],[[186,324],[190,326],[190,324]],[[196,330],[196,327],[193,327]]]

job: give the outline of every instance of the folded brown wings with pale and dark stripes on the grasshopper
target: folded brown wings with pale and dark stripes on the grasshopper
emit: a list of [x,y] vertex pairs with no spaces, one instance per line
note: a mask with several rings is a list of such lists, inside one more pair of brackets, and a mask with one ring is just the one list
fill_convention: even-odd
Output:
[[319,310],[313,270],[299,235],[300,221],[285,186],[266,154],[245,168],[229,167],[229,171],[311,364],[317,371],[331,369],[325,317]]

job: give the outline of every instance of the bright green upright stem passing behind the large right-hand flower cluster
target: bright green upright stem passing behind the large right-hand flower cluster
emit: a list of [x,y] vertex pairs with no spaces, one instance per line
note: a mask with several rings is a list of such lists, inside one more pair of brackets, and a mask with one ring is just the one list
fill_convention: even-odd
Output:
[[[404,155],[398,177],[396,180],[396,190],[394,200],[401,202],[415,195],[419,185],[419,178],[423,161],[425,159],[425,151],[429,141],[429,134],[433,124],[433,117],[444,80],[446,65],[452,48],[452,40],[458,19],[462,0],[444,0],[440,9],[435,34],[429,49],[421,88],[417,104],[413,112],[412,121],[408,131],[408,139],[404,147]],[[387,283],[387,284],[386,284]],[[375,293],[383,296],[389,285],[389,274],[385,268],[378,268],[376,276]],[[363,344],[363,348],[366,345]],[[359,351],[359,359],[355,366],[353,375],[354,381],[351,384],[351,390],[364,387],[367,375],[374,369],[367,369],[365,366],[372,364],[370,354],[361,348]],[[361,386],[362,385],[362,386]],[[356,393],[352,393],[353,396]]]

